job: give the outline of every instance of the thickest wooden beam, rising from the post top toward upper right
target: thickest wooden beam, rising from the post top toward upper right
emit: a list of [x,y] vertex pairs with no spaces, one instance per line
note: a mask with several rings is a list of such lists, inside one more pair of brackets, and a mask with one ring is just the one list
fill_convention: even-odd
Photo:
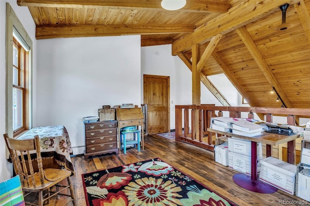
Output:
[[229,12],[218,15],[195,29],[191,34],[185,35],[172,44],[172,55],[187,51],[193,44],[202,44],[211,40],[216,34],[226,34],[234,29],[257,21],[267,15],[279,11],[284,3],[294,4],[300,0],[248,0],[232,7]]

